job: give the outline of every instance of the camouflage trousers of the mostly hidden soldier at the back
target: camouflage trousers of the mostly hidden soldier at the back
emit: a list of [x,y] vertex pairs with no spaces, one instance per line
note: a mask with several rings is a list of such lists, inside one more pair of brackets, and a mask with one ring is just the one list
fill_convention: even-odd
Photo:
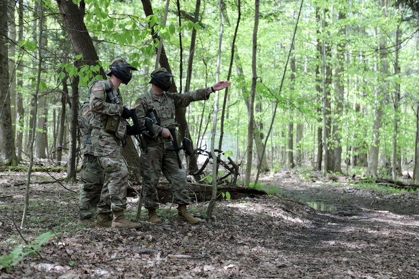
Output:
[[79,218],[91,219],[96,214],[103,186],[103,172],[98,160],[93,155],[84,154],[80,171],[83,186],[80,188]]

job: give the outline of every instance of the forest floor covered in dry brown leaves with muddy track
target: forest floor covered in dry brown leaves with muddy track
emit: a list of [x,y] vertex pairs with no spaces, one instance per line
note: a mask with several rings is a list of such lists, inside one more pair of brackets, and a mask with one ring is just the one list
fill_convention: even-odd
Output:
[[[164,204],[159,225],[143,210],[139,229],[84,228],[76,225],[81,184],[51,176],[66,173],[31,176],[18,232],[26,173],[0,173],[0,278],[419,277],[417,192],[281,171],[259,180],[276,194],[220,200],[210,222],[208,202],[198,202],[188,207],[204,221],[197,225],[177,221]],[[137,202],[128,197],[131,220]],[[37,244],[48,231],[55,236]]]

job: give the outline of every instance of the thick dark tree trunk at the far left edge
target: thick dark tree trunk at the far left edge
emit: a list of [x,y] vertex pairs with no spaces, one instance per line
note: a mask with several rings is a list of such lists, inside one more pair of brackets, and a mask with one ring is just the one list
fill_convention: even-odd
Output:
[[[0,2],[0,30],[7,30],[8,9],[14,1]],[[0,36],[0,165],[17,165],[9,95],[8,40]]]

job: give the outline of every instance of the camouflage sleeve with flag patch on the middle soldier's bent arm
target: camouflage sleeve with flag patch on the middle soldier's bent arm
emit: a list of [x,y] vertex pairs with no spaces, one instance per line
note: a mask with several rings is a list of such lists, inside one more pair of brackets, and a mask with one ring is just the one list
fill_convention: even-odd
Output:
[[106,102],[106,97],[105,85],[102,82],[94,83],[90,87],[90,110],[99,114],[121,115],[120,104]]

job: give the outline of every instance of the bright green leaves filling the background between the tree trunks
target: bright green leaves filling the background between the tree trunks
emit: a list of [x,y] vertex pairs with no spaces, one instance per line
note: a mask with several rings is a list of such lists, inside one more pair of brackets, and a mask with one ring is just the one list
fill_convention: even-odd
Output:
[[[80,0],[73,0],[73,3],[80,5]],[[220,68],[217,65],[217,43],[219,34],[214,30],[219,29],[219,22],[214,20],[214,15],[218,14],[218,5],[215,2],[208,2],[201,7],[200,19],[197,22],[191,19],[195,9],[194,2],[181,3],[181,22],[178,15],[174,12],[173,2],[169,8],[167,22],[163,25],[163,14],[165,3],[162,1],[151,1],[153,15],[145,16],[141,3],[137,2],[109,2],[103,0],[87,0],[85,3],[84,23],[93,39],[96,52],[99,57],[99,64],[95,66],[75,67],[76,60],[82,60],[81,55],[74,53],[70,40],[68,40],[66,30],[62,29],[59,19],[56,2],[44,2],[46,10],[51,11],[44,18],[45,29],[43,36],[48,44],[43,47],[43,65],[41,78],[39,79],[39,89],[43,96],[48,98],[48,122],[53,123],[52,109],[60,108],[60,92],[63,80],[66,78],[79,77],[79,87],[84,89],[91,80],[102,78],[99,76],[101,67],[107,68],[109,62],[116,57],[124,56],[130,63],[137,66],[140,71],[133,75],[130,85],[123,86],[121,91],[124,93],[124,102],[133,105],[136,97],[148,86],[149,71],[155,64],[155,50],[158,40],[152,39],[152,34],[158,34],[164,39],[164,47],[172,67],[172,72],[176,76],[175,82],[178,88],[185,83],[185,67],[180,73],[180,65],[185,64],[185,60],[180,58],[191,57],[188,53],[191,43],[191,31],[197,31],[197,44],[194,49],[194,61],[192,64],[192,77],[190,89],[198,89],[211,86],[219,74],[221,80],[227,78],[228,66],[230,64],[231,46],[233,33],[235,31],[235,20],[238,15],[238,7],[235,2],[225,2],[225,14],[229,16],[229,21],[224,21],[223,38],[221,44]],[[333,90],[336,90],[337,81],[344,84],[344,112],[336,113],[338,103],[337,96],[332,94],[331,113],[328,116],[336,125],[336,135],[347,141],[331,141],[330,147],[340,145],[342,150],[353,152],[353,155],[368,153],[372,142],[371,127],[374,123],[375,107],[377,101],[382,101],[383,123],[380,128],[380,152],[389,155],[393,149],[393,120],[397,117],[399,122],[399,132],[397,133],[398,153],[403,158],[411,160],[414,156],[415,141],[415,112],[411,103],[417,100],[417,51],[416,40],[411,34],[416,31],[411,24],[401,20],[401,14],[394,7],[379,7],[371,1],[311,1],[303,7],[302,19],[299,22],[298,32],[292,51],[295,59],[295,69],[291,75],[290,64],[287,65],[282,91],[279,91],[285,62],[291,37],[296,27],[296,11],[298,2],[272,2],[261,3],[260,28],[257,36],[257,98],[255,99],[255,119],[258,126],[258,135],[267,135],[269,123],[272,120],[273,108],[278,104],[276,121],[274,121],[270,139],[267,142],[266,158],[270,158],[273,171],[283,167],[283,148],[286,140],[286,126],[288,123],[303,125],[303,135],[301,142],[298,143],[299,150],[316,156],[317,132],[316,128],[321,126],[321,110],[323,102],[316,91],[316,86],[321,82],[316,80],[316,69],[321,65],[321,56],[318,51],[318,43],[326,42],[331,45],[332,55],[327,57],[326,62],[332,66],[332,71],[336,71],[338,59],[336,51],[338,44],[345,46],[345,61],[342,65],[344,74],[340,77],[333,77]],[[24,10],[25,19],[23,27],[23,38],[17,43],[18,48],[24,50],[17,53],[15,57],[9,57],[10,61],[21,61],[24,67],[24,74],[21,78],[22,85],[18,85],[17,90],[24,98],[24,103],[29,103],[31,94],[37,85],[38,78],[36,71],[31,71],[32,63],[39,61],[36,57],[38,47],[41,42],[37,42],[39,30],[34,18],[33,3],[28,3]],[[336,9],[330,9],[336,7]],[[320,13],[324,8],[328,8],[324,15],[327,23],[325,29],[320,26],[320,22],[315,17],[315,9]],[[344,19],[338,19],[338,13],[344,13]],[[52,15],[52,16],[51,16]],[[238,37],[235,49],[235,61],[230,80],[233,86],[227,98],[227,115],[224,120],[224,130],[235,135],[238,151],[237,156],[243,156],[247,144],[248,112],[244,102],[250,93],[252,81],[251,73],[251,43],[252,28],[254,26],[254,10],[251,5],[241,7],[241,19],[238,29]],[[323,14],[321,14],[323,16]],[[400,41],[403,44],[396,44],[395,36],[397,27],[400,25],[402,30]],[[346,32],[342,32],[344,28]],[[318,30],[318,32],[317,32]],[[378,33],[377,33],[378,32]],[[380,62],[380,55],[377,51],[381,49],[380,36],[385,34],[386,47],[389,49],[388,58],[385,61],[392,64],[395,59],[395,47],[400,45],[399,62],[403,68],[403,74],[396,75],[389,71],[384,77],[376,71],[375,65]],[[181,37],[182,42],[180,42]],[[182,43],[182,45],[180,44]],[[181,46],[183,49],[181,49]],[[241,68],[235,71],[235,68]],[[20,70],[17,71],[18,74]],[[150,71],[149,71],[150,72]],[[141,74],[140,74],[141,73]],[[293,79],[292,79],[293,76]],[[382,85],[382,80],[386,81],[385,87],[390,88],[387,95],[384,93],[375,94],[376,89]],[[400,84],[403,88],[403,98],[399,111],[394,111],[394,84]],[[80,92],[83,93],[83,92]],[[220,91],[222,99],[224,91]],[[84,94],[84,95],[83,95]],[[80,94],[85,97],[87,93]],[[126,97],[125,97],[126,96]],[[82,98],[81,98],[82,99]],[[211,113],[214,108],[213,98],[206,102],[194,102],[188,107],[188,125],[191,127],[191,134],[198,136],[208,131],[206,123],[211,123]],[[67,108],[68,109],[68,108]],[[67,111],[67,119],[70,119]],[[55,116],[56,117],[56,116]],[[57,120],[57,119],[54,119]],[[201,123],[201,121],[203,123]],[[260,123],[260,125],[259,125]],[[66,123],[68,124],[68,123]],[[26,127],[25,127],[26,126]],[[29,123],[19,126],[19,131],[25,131]],[[335,127],[333,127],[335,128]],[[52,125],[48,125],[49,140],[56,130]],[[201,130],[200,130],[201,129]],[[402,131],[402,132],[400,132]],[[266,138],[266,137],[264,137]],[[52,146],[51,143],[48,143]],[[268,154],[270,153],[270,154]],[[269,156],[268,156],[269,155]],[[226,153],[226,156],[227,153]],[[344,155],[345,156],[345,155]],[[308,159],[308,158],[305,158]],[[239,158],[240,160],[240,158]],[[249,163],[250,164],[250,163]],[[349,170],[351,174],[365,175],[363,170]],[[309,179],[309,178],[307,178]],[[212,178],[205,178],[212,183]]]

